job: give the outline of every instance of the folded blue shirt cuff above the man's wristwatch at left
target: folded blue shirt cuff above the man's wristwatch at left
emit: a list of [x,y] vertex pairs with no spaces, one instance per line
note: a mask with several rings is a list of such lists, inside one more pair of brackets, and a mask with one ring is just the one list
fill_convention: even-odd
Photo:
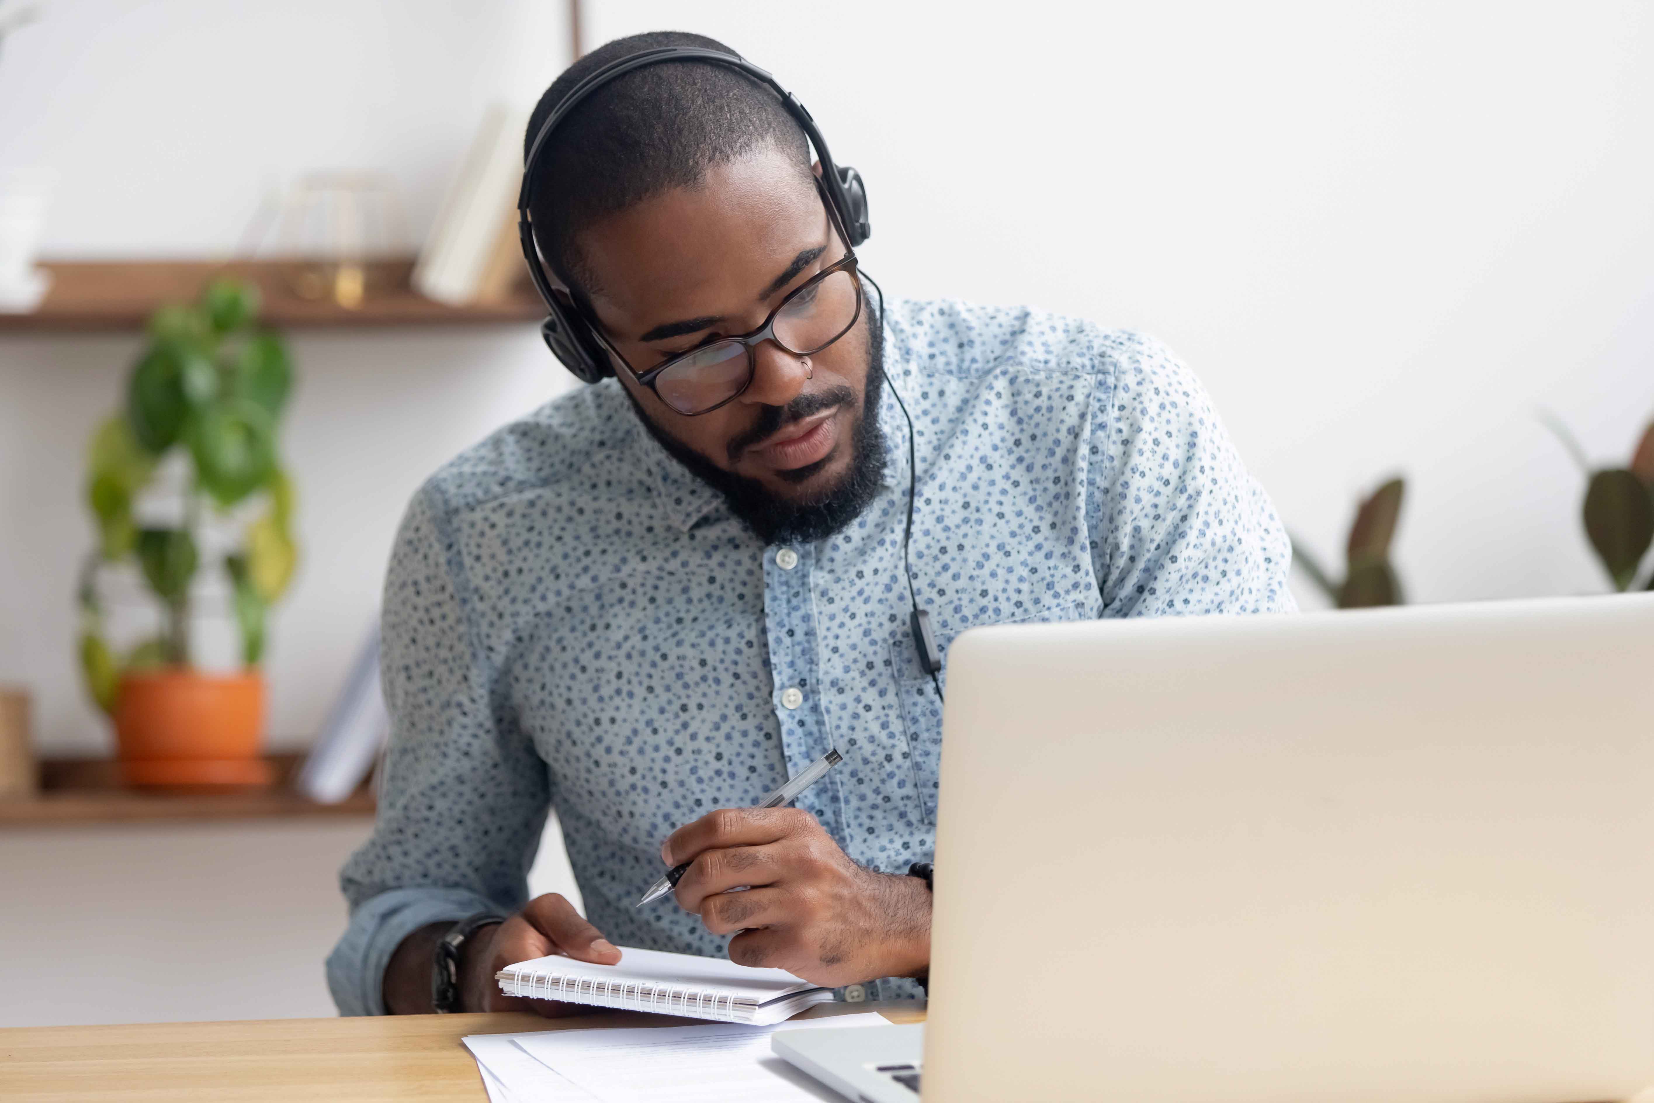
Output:
[[392,888],[364,900],[327,954],[327,989],[341,1015],[385,1014],[385,966],[414,931],[458,921],[500,905],[465,888]]

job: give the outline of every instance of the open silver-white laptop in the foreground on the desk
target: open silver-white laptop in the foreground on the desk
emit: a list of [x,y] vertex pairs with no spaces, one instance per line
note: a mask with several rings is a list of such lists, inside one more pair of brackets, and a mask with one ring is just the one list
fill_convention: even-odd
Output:
[[1654,1083],[1654,595],[1006,625],[948,657],[930,1017],[852,1100]]

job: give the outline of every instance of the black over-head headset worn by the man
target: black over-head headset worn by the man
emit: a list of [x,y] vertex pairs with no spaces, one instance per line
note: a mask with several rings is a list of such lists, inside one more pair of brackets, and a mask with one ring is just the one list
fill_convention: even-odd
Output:
[[557,106],[546,116],[539,134],[534,136],[534,142],[528,147],[528,157],[523,162],[523,189],[518,192],[518,238],[523,241],[523,260],[528,261],[528,273],[534,278],[534,288],[539,291],[539,298],[546,301],[546,311],[549,313],[546,321],[541,322],[539,332],[552,354],[562,361],[562,365],[586,384],[595,384],[600,379],[614,375],[614,369],[607,351],[599,342],[597,334],[592,332],[586,316],[579,308],[564,303],[552,291],[546,261],[534,243],[534,225],[529,215],[529,202],[534,197],[534,165],[539,160],[541,150],[546,149],[546,141],[552,131],[562,126],[562,121],[592,93],[633,69],[663,61],[721,64],[728,69],[744,73],[774,91],[781,98],[781,106],[787,109],[787,114],[794,117],[805,137],[810,139],[810,146],[815,147],[815,157],[822,162],[822,190],[827,192],[827,200],[839,213],[839,222],[844,223],[850,246],[855,248],[872,235],[872,227],[867,222],[867,189],[862,185],[862,174],[850,165],[840,169],[834,164],[822,132],[815,129],[815,119],[804,109],[799,98],[782,88],[774,76],[746,58],[695,46],[658,46],[627,55],[625,58],[615,58],[569,89],[569,94],[557,101]]

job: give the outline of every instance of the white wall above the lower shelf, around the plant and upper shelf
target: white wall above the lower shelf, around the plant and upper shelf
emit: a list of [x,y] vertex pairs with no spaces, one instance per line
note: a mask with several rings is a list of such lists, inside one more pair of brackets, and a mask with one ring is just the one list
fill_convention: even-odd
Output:
[[[228,253],[271,187],[329,169],[389,174],[418,240],[488,99],[538,94],[567,58],[561,3],[56,0],[0,56],[0,169],[56,170],[51,256]],[[342,685],[420,480],[572,382],[533,326],[289,339],[303,564],[266,663],[275,746],[308,742]],[[51,752],[112,746],[73,592],[84,442],[137,344],[0,337],[0,683],[33,690]]]

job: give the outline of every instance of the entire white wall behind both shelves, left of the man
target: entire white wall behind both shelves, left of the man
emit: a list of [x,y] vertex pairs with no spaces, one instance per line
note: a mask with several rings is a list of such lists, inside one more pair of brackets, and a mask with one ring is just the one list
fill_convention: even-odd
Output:
[[[270,187],[323,169],[390,174],[417,240],[485,103],[567,63],[564,20],[506,0],[48,0],[0,55],[0,169],[56,169],[55,256],[227,253]],[[342,683],[420,480],[567,385],[533,326],[289,339],[304,559],[266,665],[278,746],[308,741]],[[46,752],[112,746],[73,665],[73,577],[84,442],[136,347],[0,337],[0,683],[33,690]],[[336,878],[366,830],[0,832],[0,1025],[332,1014]],[[529,883],[577,900],[556,824]]]

